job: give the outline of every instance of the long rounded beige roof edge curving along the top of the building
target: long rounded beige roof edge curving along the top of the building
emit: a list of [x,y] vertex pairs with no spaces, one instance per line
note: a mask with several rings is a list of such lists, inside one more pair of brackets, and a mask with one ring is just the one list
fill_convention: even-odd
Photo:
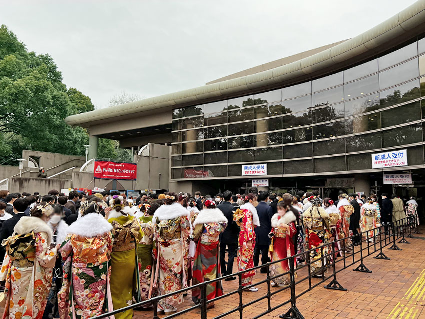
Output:
[[152,109],[195,105],[294,84],[352,65],[424,32],[425,0],[419,0],[372,29],[298,61],[214,84],[71,115],[65,121],[69,125],[89,127],[101,121],[114,121],[118,116],[137,116],[135,113]]

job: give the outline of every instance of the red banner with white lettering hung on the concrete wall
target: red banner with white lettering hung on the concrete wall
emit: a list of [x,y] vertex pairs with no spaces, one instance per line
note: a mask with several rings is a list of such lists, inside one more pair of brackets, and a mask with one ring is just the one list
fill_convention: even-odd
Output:
[[96,159],[94,161],[94,178],[136,180],[137,164]]

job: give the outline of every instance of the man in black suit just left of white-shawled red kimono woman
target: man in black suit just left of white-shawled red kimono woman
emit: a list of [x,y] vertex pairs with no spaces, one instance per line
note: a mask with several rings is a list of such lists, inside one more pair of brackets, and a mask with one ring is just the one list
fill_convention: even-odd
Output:
[[[220,264],[221,264],[221,274],[223,276],[233,273],[233,263],[234,258],[237,256],[237,247],[239,240],[240,229],[237,226],[236,222],[233,221],[233,211],[236,211],[237,208],[231,204],[230,200],[232,197],[231,191],[226,190],[223,193],[224,201],[217,205],[217,208],[220,209],[224,216],[227,218],[227,227],[221,233],[220,238]],[[226,266],[226,247],[228,247],[228,260]],[[225,281],[235,280],[236,277],[230,277],[225,279]]]

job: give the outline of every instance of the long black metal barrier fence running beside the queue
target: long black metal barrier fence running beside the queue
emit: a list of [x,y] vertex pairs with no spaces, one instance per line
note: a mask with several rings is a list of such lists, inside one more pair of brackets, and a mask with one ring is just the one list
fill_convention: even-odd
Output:
[[[372,236],[370,236],[370,233],[373,233]],[[376,259],[383,259],[383,260],[389,260],[390,258],[388,258],[384,252],[383,252],[383,248],[392,244],[388,249],[390,250],[402,250],[397,246],[397,240],[402,238],[399,243],[405,243],[408,244],[409,242],[406,240],[406,238],[414,238],[413,234],[414,233],[420,233],[417,229],[417,223],[416,223],[416,216],[409,216],[406,217],[404,219],[392,222],[388,225],[386,225],[385,227],[378,227],[372,230],[368,230],[368,231],[364,231],[361,232],[359,234],[353,235],[353,236],[349,236],[349,237],[345,237],[342,239],[338,239],[338,240],[334,240],[332,242],[326,243],[324,245],[319,246],[318,248],[314,248],[314,249],[310,249],[307,251],[304,251],[302,253],[296,254],[294,256],[285,258],[285,259],[281,259],[281,260],[277,260],[277,261],[273,261],[273,262],[269,262],[265,265],[261,265],[261,266],[257,266],[254,268],[250,268],[250,269],[246,269],[244,271],[240,271],[231,275],[227,275],[227,276],[223,276],[223,277],[219,277],[216,278],[214,280],[210,280],[210,281],[205,281],[178,291],[174,291],[165,295],[160,295],[160,296],[156,296],[153,297],[149,300],[146,301],[142,301],[142,302],[138,302],[138,303],[134,303],[132,305],[129,305],[127,307],[121,308],[121,309],[117,309],[111,312],[107,312],[104,313],[102,315],[93,317],[93,319],[103,319],[106,317],[109,317],[113,314],[117,314],[120,312],[124,312],[130,309],[134,309],[134,308],[138,308],[140,306],[143,305],[150,305],[153,304],[153,318],[154,319],[158,319],[158,311],[157,311],[157,305],[158,302],[165,298],[165,297],[171,297],[173,295],[176,294],[180,294],[180,293],[187,293],[188,291],[190,291],[193,288],[200,288],[200,303],[199,304],[195,304],[192,307],[189,308],[185,308],[181,311],[178,312],[174,312],[170,315],[167,316],[167,318],[174,318],[176,316],[182,315],[184,313],[187,313],[189,311],[193,311],[195,309],[200,309],[200,317],[201,319],[207,319],[207,305],[210,302],[217,302],[221,299],[227,298],[227,297],[231,297],[233,295],[237,295],[238,299],[239,299],[239,304],[237,307],[228,310],[224,313],[221,313],[217,316],[215,316],[213,319],[220,319],[223,318],[225,316],[231,315],[235,312],[239,313],[239,318],[242,319],[243,318],[243,310],[246,307],[249,306],[253,306],[255,305],[257,302],[260,302],[262,300],[267,299],[267,309],[262,312],[259,313],[258,315],[256,315],[253,319],[257,319],[262,317],[263,315],[270,313],[272,311],[277,310],[278,308],[281,308],[287,304],[290,304],[290,308],[287,312],[285,312],[284,314],[282,314],[280,317],[283,319],[303,319],[304,317],[302,316],[302,314],[300,313],[300,311],[298,310],[298,308],[296,307],[296,300],[298,298],[300,298],[301,296],[303,296],[305,293],[307,293],[308,291],[312,290],[313,288],[323,284],[323,282],[332,279],[327,285],[324,286],[324,288],[326,289],[334,289],[334,290],[342,290],[342,291],[346,291],[345,288],[342,287],[342,285],[337,281],[336,275],[352,266],[355,265],[357,263],[359,263],[358,267],[353,269],[353,271],[360,271],[360,272],[372,272],[371,270],[369,270],[366,265],[364,264],[364,258],[368,257],[374,253],[378,253],[374,258]],[[347,245],[347,242],[350,241],[352,242],[352,245]],[[311,264],[314,264],[315,262],[317,262],[317,260],[312,261],[310,258],[310,252],[312,251],[317,251],[317,249],[320,250],[321,252],[321,271],[318,275],[318,279],[317,274],[313,274],[311,271]],[[330,252],[329,252],[330,250]],[[336,255],[342,255],[342,258],[336,258]],[[303,264],[299,264],[296,267],[296,259],[299,256],[303,256],[304,259],[306,260]],[[272,264],[275,263],[279,263],[282,261],[288,260],[289,261],[289,271],[276,275],[276,276],[271,276],[270,275],[270,266]],[[219,262],[219,260],[218,260]],[[337,265],[339,265],[338,269],[337,269]],[[252,271],[253,269],[258,270],[261,268],[266,268],[267,270],[267,277],[264,280],[261,280],[259,282],[255,282],[250,286],[242,286],[242,274],[248,272],[248,271]],[[307,273],[304,276],[300,276],[300,270],[306,268],[307,269]],[[329,275],[327,275],[327,272],[331,272],[329,273]],[[278,277],[284,276],[284,275],[289,275],[290,276],[290,284],[288,286],[283,286],[283,287],[277,287],[277,288],[273,288],[271,289],[271,281],[273,279],[276,279]],[[207,295],[206,295],[206,287],[208,284],[214,283],[214,282],[218,282],[218,281],[222,281],[226,278],[230,278],[230,277],[234,277],[237,276],[239,279],[239,287],[237,290],[233,290],[230,291],[228,293],[223,294],[220,297],[217,297],[213,300],[207,300]],[[298,278],[297,278],[298,277]],[[299,284],[301,282],[304,282],[308,280],[308,285],[306,285],[306,287],[303,287],[302,291],[296,291],[296,287],[299,287]],[[313,282],[313,280],[318,280],[318,282]],[[256,298],[255,300],[251,300],[249,302],[244,303],[243,299],[242,299],[242,294],[243,291],[249,289],[250,287],[253,286],[258,286],[261,284],[266,283],[267,285],[267,293]],[[290,289],[290,298],[287,299],[284,302],[279,301],[279,303],[275,306],[272,306],[272,296],[284,291]],[[298,288],[299,289],[299,288]],[[258,292],[257,292],[258,293]],[[233,318],[234,316],[232,316]]]

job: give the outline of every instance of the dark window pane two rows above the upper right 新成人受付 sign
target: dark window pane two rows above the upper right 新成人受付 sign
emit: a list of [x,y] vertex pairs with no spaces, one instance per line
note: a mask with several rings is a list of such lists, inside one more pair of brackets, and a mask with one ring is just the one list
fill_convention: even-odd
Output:
[[419,120],[421,119],[420,102],[381,111],[380,116],[382,128]]

